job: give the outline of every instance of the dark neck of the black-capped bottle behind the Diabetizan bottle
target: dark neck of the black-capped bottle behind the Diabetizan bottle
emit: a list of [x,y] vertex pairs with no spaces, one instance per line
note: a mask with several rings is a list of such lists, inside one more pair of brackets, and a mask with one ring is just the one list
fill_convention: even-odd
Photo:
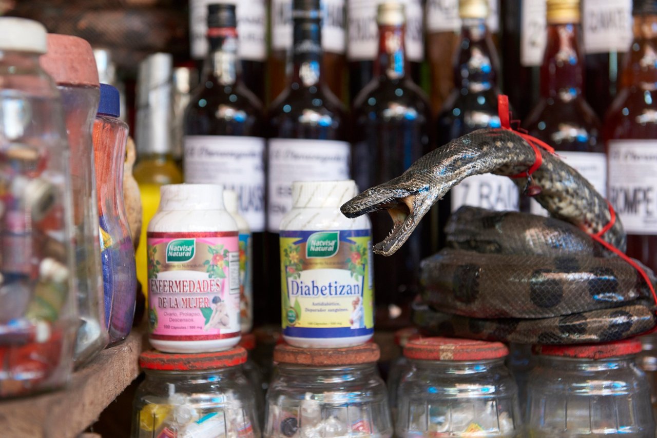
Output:
[[[292,87],[309,88],[321,83],[322,37],[319,18],[294,18]],[[295,85],[296,84],[296,85]]]

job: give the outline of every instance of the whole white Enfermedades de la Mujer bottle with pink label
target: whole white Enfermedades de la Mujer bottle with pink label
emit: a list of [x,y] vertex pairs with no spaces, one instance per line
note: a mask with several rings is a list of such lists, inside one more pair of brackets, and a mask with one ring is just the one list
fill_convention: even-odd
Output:
[[238,231],[221,186],[162,186],[147,236],[150,345],[167,353],[237,345]]

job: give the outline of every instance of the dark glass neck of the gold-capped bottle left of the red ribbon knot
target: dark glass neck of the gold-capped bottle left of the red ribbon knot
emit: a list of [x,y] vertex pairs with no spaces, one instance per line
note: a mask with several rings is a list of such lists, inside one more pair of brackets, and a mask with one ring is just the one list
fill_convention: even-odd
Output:
[[497,86],[497,53],[484,18],[464,18],[454,66],[454,85],[470,93]]

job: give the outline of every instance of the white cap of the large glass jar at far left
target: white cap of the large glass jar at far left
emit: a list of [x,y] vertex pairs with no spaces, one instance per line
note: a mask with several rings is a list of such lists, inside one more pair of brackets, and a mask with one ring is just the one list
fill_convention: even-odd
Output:
[[43,55],[48,47],[43,24],[26,18],[0,17],[0,50],[38,53]]

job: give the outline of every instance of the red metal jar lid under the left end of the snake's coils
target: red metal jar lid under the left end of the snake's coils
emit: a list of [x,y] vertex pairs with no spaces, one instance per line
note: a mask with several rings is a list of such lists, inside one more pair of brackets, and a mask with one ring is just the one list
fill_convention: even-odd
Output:
[[420,361],[484,361],[509,354],[501,342],[471,339],[420,338],[409,341],[404,356]]

